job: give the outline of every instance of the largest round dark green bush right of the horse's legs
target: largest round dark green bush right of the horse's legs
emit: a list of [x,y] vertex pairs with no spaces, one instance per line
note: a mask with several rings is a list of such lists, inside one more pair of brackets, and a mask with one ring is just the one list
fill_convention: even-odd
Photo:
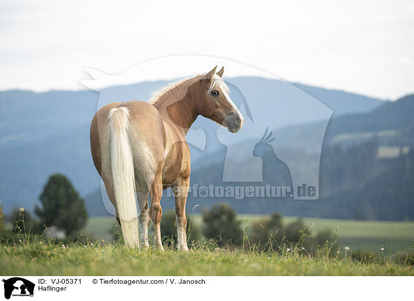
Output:
[[240,244],[243,231],[236,212],[228,204],[218,204],[210,210],[204,209],[203,233],[208,239],[215,240],[219,246]]

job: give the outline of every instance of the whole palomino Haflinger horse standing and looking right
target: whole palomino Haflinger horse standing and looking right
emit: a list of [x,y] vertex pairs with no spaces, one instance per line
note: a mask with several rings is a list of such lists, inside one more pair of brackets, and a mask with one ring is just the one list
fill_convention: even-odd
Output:
[[[92,119],[93,162],[115,206],[126,246],[148,247],[148,226],[154,222],[155,246],[161,243],[161,195],[172,187],[179,250],[188,250],[186,200],[190,184],[190,150],[186,133],[202,115],[236,133],[243,117],[228,96],[217,66],[204,75],[177,81],[155,93],[150,103],[132,100],[103,106]],[[148,193],[151,206],[148,207]]]

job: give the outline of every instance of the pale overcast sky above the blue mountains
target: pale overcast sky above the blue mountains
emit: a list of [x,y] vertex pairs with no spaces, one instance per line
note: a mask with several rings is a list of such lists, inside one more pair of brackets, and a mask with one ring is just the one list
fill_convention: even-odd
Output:
[[81,89],[83,68],[210,55],[383,99],[414,92],[414,1],[103,2],[1,0],[0,90]]

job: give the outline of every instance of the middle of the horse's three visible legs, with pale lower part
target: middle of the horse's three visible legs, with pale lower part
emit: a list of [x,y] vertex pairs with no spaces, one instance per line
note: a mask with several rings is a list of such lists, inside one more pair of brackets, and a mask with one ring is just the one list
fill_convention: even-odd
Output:
[[150,188],[151,207],[150,215],[154,223],[154,243],[155,247],[160,251],[164,251],[161,242],[161,197],[162,197],[162,181],[161,175],[156,175]]

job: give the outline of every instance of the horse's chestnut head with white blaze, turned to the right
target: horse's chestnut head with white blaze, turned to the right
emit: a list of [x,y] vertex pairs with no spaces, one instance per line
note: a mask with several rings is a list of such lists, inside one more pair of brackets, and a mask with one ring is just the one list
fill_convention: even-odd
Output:
[[215,73],[217,66],[201,75],[197,113],[212,119],[227,128],[231,133],[238,132],[243,126],[243,116],[228,96],[228,87],[223,77],[224,67]]

